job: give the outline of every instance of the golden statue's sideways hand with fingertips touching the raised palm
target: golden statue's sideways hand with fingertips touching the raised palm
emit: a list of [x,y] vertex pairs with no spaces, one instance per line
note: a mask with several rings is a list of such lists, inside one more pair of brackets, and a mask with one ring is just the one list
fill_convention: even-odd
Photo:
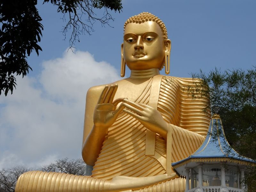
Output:
[[166,139],[168,124],[164,121],[159,111],[148,105],[134,103],[128,99],[124,99],[124,106],[123,111],[125,113],[138,119],[147,129],[160,134]]

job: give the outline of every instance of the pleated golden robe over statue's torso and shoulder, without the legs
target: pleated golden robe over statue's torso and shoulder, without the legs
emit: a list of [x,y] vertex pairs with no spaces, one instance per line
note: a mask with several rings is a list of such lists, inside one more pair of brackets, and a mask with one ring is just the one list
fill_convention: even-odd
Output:
[[[152,80],[134,102],[149,104]],[[192,99],[188,94],[192,79],[161,76],[160,80],[157,110],[167,123],[175,125],[172,126],[172,162],[176,162],[191,155],[203,143],[210,117],[202,112],[204,101]],[[155,155],[147,156],[146,130],[137,119],[121,113],[108,129],[92,178],[110,180],[118,175],[146,177],[166,173],[166,140],[156,134]],[[176,180],[185,186],[183,179]]]

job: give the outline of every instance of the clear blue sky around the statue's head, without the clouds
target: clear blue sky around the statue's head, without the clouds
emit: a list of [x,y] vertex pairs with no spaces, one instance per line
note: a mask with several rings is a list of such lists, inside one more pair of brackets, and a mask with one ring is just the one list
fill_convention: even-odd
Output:
[[[215,66],[226,69],[255,65],[256,3],[253,0],[125,0],[123,7],[120,14],[112,14],[115,21],[110,25],[114,28],[102,28],[95,23],[95,32],[80,36],[76,48],[89,51],[96,61],[107,61],[119,70],[124,21],[145,11],[158,16],[167,27],[172,41],[173,76],[189,76],[200,68],[207,72]],[[40,43],[43,52],[39,57],[34,53],[29,58],[35,73],[40,71],[40,61],[61,56],[69,45],[59,32],[64,23],[56,7],[48,4],[38,8],[44,31]]]

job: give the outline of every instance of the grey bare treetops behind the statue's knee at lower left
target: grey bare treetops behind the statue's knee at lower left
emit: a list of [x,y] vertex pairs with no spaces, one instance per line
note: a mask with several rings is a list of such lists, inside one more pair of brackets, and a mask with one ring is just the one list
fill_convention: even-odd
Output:
[[[24,172],[32,170],[33,169],[31,168],[23,166],[17,166],[10,169],[3,168],[0,170],[0,192],[14,192],[19,176]],[[64,158],[56,160],[55,163],[44,165],[38,170],[45,172],[61,172],[75,175],[85,175],[86,164],[82,158],[76,160]]]

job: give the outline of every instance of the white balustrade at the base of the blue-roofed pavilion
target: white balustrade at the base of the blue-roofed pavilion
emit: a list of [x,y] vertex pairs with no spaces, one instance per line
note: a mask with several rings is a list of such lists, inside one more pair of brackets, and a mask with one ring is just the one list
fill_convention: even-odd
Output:
[[185,192],[243,192],[243,189],[233,188],[233,187],[222,187],[222,186],[204,186],[189,189]]

